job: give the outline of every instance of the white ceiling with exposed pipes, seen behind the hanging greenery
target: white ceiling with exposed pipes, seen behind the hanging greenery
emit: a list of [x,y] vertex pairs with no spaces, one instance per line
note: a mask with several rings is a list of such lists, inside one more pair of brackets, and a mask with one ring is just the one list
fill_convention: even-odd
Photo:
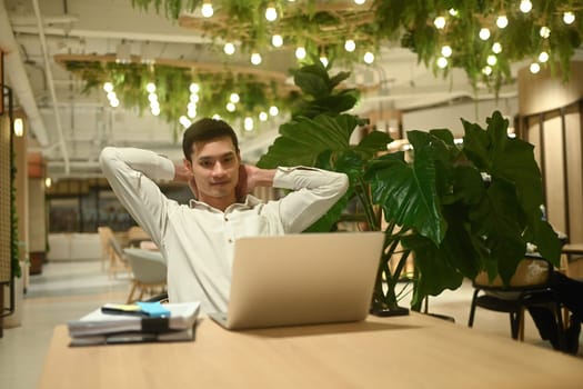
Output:
[[[149,113],[111,108],[102,91],[83,94],[83,82],[54,60],[58,54],[111,54],[122,39],[134,54],[148,42],[157,59],[224,62],[208,38],[164,16],[133,9],[131,0],[0,0],[6,81],[16,92],[17,108],[28,118],[30,150],[42,152],[53,179],[100,176],[97,159],[105,144],[149,148],[181,159],[172,124]],[[283,51],[268,52],[263,58],[260,67],[264,71],[287,74],[296,67],[293,56]],[[237,56],[227,64],[252,67],[247,58]],[[370,90],[356,113],[379,108],[415,111],[474,98],[492,99],[485,90],[476,96],[462,71],[454,70],[448,79],[436,78],[418,63],[414,53],[389,44],[372,66],[356,66],[349,81]],[[514,97],[515,87],[505,87],[501,93]],[[243,158],[257,160],[283,120],[274,118],[252,132],[241,131]]]

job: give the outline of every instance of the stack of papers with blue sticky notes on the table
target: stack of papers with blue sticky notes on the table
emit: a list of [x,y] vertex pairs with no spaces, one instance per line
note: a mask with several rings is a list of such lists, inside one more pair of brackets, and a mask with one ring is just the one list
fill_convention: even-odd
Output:
[[71,346],[194,339],[199,301],[164,303],[155,313],[140,308],[115,311],[111,306],[70,321]]

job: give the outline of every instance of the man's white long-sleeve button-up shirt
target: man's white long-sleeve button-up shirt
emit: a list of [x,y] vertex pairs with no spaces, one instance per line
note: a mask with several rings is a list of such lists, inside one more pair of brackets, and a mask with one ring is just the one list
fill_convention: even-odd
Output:
[[169,300],[200,300],[207,312],[227,310],[235,239],[301,232],[348,188],[343,173],[278,168],[273,187],[292,192],[267,203],[248,196],[222,212],[195,200],[187,206],[168,199],[154,181],[172,180],[174,164],[153,151],[107,147],[100,164],[121,203],[167,260]]

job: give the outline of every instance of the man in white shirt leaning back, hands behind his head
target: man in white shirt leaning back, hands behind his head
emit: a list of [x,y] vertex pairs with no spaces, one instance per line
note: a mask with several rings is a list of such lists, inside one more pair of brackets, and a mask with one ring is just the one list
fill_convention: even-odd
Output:
[[[182,149],[181,167],[152,151],[111,147],[102,150],[100,164],[120,201],[167,259],[170,301],[201,300],[205,311],[227,309],[235,239],[301,232],[348,188],[342,173],[242,164],[237,134],[222,120],[193,123]],[[172,179],[188,182],[195,200],[181,206],[154,183]],[[249,196],[257,187],[292,192],[263,203]]]

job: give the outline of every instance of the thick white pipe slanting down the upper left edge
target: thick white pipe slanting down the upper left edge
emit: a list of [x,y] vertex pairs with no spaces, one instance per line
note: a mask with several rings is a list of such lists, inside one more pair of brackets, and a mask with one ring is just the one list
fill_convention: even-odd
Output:
[[12,32],[3,1],[0,1],[0,50],[6,53],[6,74],[10,80],[12,90],[18,96],[18,101],[27,114],[29,128],[41,146],[48,146],[49,137],[47,136],[47,128],[44,127],[44,121],[34,100],[34,94],[27,71],[24,70],[24,62],[20,56],[20,50]]

